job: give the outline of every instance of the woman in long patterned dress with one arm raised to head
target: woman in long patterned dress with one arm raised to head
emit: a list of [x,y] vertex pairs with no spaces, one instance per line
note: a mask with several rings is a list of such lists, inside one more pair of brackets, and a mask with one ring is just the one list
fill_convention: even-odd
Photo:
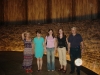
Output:
[[31,73],[32,71],[32,61],[33,61],[33,49],[32,49],[32,39],[30,38],[29,32],[22,33],[22,40],[24,42],[24,60],[23,68],[26,73]]

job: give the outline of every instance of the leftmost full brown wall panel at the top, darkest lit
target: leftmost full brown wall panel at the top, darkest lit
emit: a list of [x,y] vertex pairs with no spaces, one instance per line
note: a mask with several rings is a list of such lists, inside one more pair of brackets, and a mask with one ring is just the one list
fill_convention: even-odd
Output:
[[26,0],[4,0],[4,21],[25,21]]

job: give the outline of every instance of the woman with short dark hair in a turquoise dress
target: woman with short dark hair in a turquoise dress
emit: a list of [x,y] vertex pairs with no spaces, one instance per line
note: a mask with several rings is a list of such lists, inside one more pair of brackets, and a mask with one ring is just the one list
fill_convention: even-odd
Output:
[[42,70],[42,57],[44,54],[44,38],[41,37],[41,31],[36,31],[37,37],[33,40],[35,57],[37,58],[38,72]]

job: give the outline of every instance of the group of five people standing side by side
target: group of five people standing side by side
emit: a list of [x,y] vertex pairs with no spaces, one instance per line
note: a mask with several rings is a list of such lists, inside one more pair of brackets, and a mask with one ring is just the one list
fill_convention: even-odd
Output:
[[[47,54],[47,70],[55,71],[55,52],[58,52],[60,68],[58,71],[66,73],[67,61],[66,61],[66,46],[71,59],[71,72],[75,72],[75,60],[81,58],[81,52],[83,52],[83,39],[80,34],[76,32],[76,27],[71,28],[71,34],[67,38],[63,29],[59,29],[58,35],[55,37],[52,29],[48,30],[48,34],[45,39],[41,36],[41,31],[36,31],[36,37],[31,38],[29,32],[22,33],[22,40],[24,42],[24,60],[23,68],[26,73],[32,71],[33,54],[37,58],[38,72],[42,70],[43,54]],[[80,75],[80,66],[77,67],[77,75]]]

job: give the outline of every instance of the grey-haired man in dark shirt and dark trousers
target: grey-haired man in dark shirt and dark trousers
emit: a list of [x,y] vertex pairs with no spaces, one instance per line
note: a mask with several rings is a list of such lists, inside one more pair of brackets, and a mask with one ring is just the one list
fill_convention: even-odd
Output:
[[[77,33],[76,27],[71,28],[72,34],[68,38],[68,53],[71,59],[71,72],[75,71],[75,60],[81,58],[81,52],[83,52],[83,39],[80,34]],[[80,75],[80,66],[76,66],[77,75]]]

